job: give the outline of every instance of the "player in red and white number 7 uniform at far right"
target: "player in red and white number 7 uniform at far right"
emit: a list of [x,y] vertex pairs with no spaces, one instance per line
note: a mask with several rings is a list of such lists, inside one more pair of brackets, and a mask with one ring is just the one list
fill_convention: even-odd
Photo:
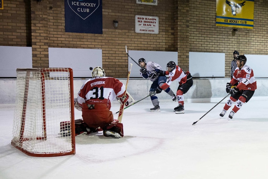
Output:
[[[257,89],[257,82],[254,78],[252,68],[246,65],[247,58],[244,55],[239,55],[236,59],[237,68],[233,73],[233,78],[226,84],[226,92],[231,94],[231,97],[226,102],[222,112],[219,114],[223,117],[226,111],[237,101],[233,110],[229,114],[229,119],[233,119],[233,115],[248,102]],[[237,86],[232,86],[238,82]]]

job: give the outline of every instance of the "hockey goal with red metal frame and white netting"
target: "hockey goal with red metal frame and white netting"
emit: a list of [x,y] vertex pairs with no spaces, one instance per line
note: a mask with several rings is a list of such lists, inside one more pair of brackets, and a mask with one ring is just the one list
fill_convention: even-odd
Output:
[[[72,69],[18,68],[16,71],[11,144],[35,157],[75,154]],[[71,121],[68,134],[60,132],[62,121]]]

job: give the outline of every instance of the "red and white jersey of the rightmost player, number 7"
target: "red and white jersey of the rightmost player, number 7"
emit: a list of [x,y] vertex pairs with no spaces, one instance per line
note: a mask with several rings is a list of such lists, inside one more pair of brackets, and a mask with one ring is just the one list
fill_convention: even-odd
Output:
[[254,91],[257,89],[257,82],[254,78],[253,70],[244,65],[242,69],[236,68],[233,73],[233,78],[231,80],[231,84],[235,84],[239,82],[236,88],[239,90],[251,90]]

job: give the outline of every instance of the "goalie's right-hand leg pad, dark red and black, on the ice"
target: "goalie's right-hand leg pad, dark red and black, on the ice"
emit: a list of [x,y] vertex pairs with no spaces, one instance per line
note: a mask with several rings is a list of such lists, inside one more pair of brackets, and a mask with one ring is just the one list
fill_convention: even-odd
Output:
[[105,137],[122,138],[124,137],[123,124],[114,121],[103,128],[103,135]]

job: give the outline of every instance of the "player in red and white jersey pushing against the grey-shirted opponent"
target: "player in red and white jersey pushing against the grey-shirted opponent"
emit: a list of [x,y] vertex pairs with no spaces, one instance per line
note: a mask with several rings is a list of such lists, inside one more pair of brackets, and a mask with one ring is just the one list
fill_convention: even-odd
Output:
[[[170,87],[171,82],[178,81],[179,87],[177,89],[177,99],[178,99],[178,106],[174,108],[176,114],[184,113],[184,97],[183,94],[187,93],[187,91],[192,87],[193,80],[192,76],[189,71],[186,73],[180,68],[175,62],[170,61],[167,64],[167,71],[164,72],[165,74],[169,75],[169,79],[167,82],[164,83],[160,88],[166,89]],[[158,89],[157,89],[158,90]]]

